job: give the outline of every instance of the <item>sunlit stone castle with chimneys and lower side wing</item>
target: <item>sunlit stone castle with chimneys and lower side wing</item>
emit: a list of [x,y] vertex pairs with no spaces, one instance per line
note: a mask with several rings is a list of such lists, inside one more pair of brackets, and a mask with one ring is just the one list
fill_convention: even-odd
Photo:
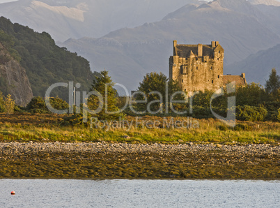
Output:
[[218,41],[211,45],[178,45],[173,41],[173,56],[169,58],[169,79],[177,80],[182,91],[216,91],[229,82],[246,84],[245,74],[224,75],[224,48]]

